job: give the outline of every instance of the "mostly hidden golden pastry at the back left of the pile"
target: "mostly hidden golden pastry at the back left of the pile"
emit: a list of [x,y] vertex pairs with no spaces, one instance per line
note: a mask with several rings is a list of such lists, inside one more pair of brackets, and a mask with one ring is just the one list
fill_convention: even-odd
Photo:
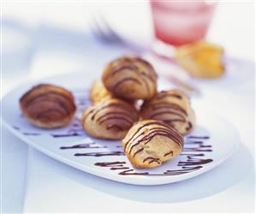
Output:
[[105,98],[114,98],[114,96],[105,88],[102,80],[96,80],[92,84],[90,98],[92,103],[95,104],[104,100]]

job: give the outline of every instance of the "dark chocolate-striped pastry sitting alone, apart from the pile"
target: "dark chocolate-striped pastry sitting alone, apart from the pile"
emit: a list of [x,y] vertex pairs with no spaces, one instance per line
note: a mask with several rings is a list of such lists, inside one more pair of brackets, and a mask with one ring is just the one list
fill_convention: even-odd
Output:
[[71,92],[60,86],[39,84],[20,98],[23,115],[40,128],[59,128],[73,118],[76,107]]

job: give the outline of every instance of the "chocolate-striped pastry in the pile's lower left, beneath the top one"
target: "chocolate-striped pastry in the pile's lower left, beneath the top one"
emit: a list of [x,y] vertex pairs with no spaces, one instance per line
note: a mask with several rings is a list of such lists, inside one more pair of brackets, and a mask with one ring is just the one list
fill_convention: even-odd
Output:
[[132,105],[110,98],[87,108],[81,122],[86,133],[93,137],[120,140],[138,120],[139,112]]

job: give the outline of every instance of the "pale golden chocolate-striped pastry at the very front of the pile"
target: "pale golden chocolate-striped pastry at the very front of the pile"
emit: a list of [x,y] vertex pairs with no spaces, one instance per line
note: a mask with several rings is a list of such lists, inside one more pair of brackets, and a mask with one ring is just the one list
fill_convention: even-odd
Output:
[[182,152],[183,138],[165,122],[145,120],[130,128],[122,146],[134,167],[153,168],[176,158]]

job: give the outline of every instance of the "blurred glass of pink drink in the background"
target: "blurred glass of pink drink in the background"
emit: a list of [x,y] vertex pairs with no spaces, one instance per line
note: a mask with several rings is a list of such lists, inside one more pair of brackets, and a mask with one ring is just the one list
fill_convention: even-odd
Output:
[[216,3],[151,0],[151,6],[157,39],[184,45],[205,38]]

